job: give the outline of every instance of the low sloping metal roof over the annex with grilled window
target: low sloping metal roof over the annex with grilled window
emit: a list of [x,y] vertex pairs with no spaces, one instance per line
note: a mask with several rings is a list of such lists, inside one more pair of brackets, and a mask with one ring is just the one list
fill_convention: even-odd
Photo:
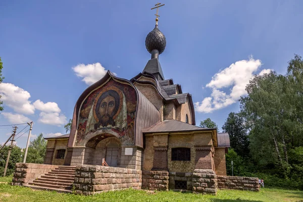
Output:
[[174,132],[174,131],[197,131],[197,130],[213,130],[214,128],[200,128],[188,123],[177,120],[164,120],[158,122],[154,126],[143,130],[143,133],[156,133],[156,132]]

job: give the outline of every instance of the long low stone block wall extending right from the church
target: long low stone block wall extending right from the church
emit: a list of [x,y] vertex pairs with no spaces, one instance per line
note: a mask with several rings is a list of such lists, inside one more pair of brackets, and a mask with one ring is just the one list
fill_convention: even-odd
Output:
[[217,179],[220,189],[260,191],[259,178],[256,177],[217,176]]

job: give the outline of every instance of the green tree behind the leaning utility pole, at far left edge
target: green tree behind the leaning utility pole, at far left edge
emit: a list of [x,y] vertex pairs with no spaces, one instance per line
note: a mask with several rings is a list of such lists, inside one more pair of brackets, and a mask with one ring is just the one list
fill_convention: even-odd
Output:
[[[0,175],[3,176],[6,160],[8,158],[9,146],[4,146],[0,151]],[[11,151],[11,156],[8,164],[7,175],[12,175],[15,171],[16,163],[22,162],[22,152],[19,146],[14,145]]]

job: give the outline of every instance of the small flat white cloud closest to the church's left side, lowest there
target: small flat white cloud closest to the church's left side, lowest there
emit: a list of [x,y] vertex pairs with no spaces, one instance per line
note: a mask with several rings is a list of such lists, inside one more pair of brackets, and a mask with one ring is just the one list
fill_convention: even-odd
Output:
[[66,117],[63,114],[59,114],[58,112],[51,112],[51,113],[41,112],[39,114],[38,121],[44,124],[57,125],[57,126],[60,126],[67,122]]

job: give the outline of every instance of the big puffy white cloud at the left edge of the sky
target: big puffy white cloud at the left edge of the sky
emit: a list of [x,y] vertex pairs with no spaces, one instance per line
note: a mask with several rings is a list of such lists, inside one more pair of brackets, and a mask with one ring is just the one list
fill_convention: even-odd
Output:
[[15,112],[22,114],[34,114],[35,108],[31,105],[29,92],[15,86],[12,83],[0,84],[1,99],[4,104],[11,107]]

